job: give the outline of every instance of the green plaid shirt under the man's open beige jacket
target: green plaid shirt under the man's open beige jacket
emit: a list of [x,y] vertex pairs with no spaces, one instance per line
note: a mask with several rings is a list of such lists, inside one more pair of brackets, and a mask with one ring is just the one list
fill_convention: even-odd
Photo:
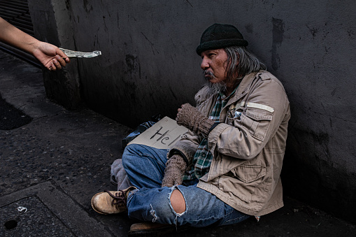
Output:
[[[237,87],[236,87],[237,88]],[[227,101],[235,94],[236,89],[234,92],[229,96],[225,96],[225,94],[220,93],[218,98],[216,99],[215,106],[209,119],[213,120],[214,122],[220,122],[220,112],[222,108],[224,108],[227,104]],[[190,171],[185,171],[183,175],[183,180],[194,180],[194,178],[201,178],[202,176],[206,175],[209,172],[209,168],[211,165],[211,161],[213,159],[213,155],[209,151],[208,148],[208,139],[204,138],[203,141],[199,144],[197,152],[195,152],[193,157],[192,168]]]

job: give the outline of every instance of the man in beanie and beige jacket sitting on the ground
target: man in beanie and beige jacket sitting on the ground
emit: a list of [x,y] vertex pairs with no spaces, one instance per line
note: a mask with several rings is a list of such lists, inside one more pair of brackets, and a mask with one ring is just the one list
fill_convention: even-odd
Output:
[[[133,187],[92,198],[98,213],[128,211],[143,223],[206,227],[257,219],[283,206],[282,168],[290,106],[280,81],[229,24],[213,24],[197,54],[208,85],[178,109],[190,129],[171,150],[128,145],[122,164]],[[130,233],[129,232],[129,233]]]

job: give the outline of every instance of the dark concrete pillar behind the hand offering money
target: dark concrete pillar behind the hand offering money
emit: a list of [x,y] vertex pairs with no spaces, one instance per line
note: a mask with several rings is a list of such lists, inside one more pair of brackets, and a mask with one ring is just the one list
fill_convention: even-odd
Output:
[[[62,48],[76,48],[68,2],[29,0],[29,10],[36,38]],[[72,60],[66,70],[50,72],[43,68],[43,82],[48,98],[70,109],[82,105],[78,62]]]

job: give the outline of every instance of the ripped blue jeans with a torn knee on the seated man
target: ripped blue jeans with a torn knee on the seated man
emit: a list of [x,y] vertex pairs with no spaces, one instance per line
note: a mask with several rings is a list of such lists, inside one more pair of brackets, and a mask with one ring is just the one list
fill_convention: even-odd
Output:
[[[145,145],[128,145],[122,164],[131,183],[137,187],[127,199],[132,219],[161,224],[206,227],[211,224],[236,224],[249,215],[235,210],[215,195],[197,187],[198,180],[175,187],[161,187],[168,150]],[[185,212],[176,213],[171,206],[171,193],[178,189],[185,199]]]

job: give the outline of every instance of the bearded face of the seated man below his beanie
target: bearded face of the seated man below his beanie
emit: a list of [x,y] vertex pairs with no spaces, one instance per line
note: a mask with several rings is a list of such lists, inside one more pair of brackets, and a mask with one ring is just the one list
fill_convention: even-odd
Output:
[[204,70],[204,78],[208,82],[213,84],[225,82],[227,54],[224,49],[206,50],[201,53],[201,59],[200,67]]

